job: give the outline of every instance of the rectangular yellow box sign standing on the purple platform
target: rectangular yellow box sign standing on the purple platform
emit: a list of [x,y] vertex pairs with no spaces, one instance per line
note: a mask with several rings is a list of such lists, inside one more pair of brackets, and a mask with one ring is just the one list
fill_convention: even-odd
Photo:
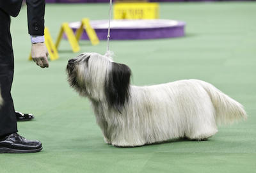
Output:
[[116,3],[114,19],[158,19],[158,3]]

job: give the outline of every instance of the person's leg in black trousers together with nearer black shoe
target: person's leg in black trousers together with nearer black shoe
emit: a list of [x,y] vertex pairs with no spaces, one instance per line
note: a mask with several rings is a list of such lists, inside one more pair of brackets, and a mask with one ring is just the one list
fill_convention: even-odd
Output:
[[0,87],[3,97],[0,108],[0,153],[35,153],[42,150],[41,142],[26,140],[17,133],[11,95],[14,62],[10,15],[0,9],[0,19]]

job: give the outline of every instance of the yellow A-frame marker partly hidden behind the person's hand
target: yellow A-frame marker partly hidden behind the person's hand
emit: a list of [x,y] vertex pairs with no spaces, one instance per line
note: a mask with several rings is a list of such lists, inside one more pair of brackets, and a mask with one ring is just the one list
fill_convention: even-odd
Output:
[[[51,34],[49,32],[49,29],[47,27],[45,27],[44,29],[44,40],[45,40],[45,45],[47,47],[48,53],[49,53],[49,57],[52,61],[56,60],[59,58],[59,54],[58,51],[52,41],[52,37]],[[32,60],[31,57],[31,53],[29,55],[29,60]]]

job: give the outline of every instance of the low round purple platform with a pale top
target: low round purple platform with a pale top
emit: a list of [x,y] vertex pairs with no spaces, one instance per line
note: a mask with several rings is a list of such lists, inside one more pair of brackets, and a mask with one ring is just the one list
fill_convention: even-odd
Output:
[[[90,20],[92,28],[97,33],[99,40],[107,40],[108,20]],[[76,32],[81,22],[72,22],[69,26]],[[178,20],[111,20],[111,40],[142,40],[157,38],[173,38],[185,35],[185,22]],[[88,40],[85,31],[82,40]]]

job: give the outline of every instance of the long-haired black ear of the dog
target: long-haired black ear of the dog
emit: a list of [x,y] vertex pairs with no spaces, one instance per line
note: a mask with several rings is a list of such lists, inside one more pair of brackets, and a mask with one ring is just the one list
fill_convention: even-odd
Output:
[[129,100],[131,70],[125,64],[112,63],[106,79],[105,93],[110,107],[121,113],[125,102]]

